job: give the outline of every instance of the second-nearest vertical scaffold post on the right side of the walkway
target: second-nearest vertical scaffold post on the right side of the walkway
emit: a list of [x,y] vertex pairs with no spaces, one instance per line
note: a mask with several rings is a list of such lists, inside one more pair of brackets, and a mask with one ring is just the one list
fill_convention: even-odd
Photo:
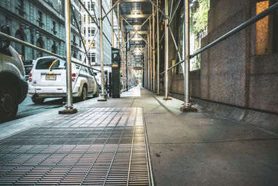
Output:
[[169,19],[168,19],[168,13],[169,13],[169,0],[165,0],[165,98],[163,100],[172,100],[171,98],[168,98],[168,67],[169,67]]

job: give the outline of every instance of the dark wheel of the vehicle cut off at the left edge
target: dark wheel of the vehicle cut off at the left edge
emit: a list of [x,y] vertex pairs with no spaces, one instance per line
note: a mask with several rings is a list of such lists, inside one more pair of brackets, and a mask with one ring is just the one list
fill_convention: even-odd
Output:
[[0,88],[0,122],[10,121],[17,115],[16,91],[10,84],[1,84]]

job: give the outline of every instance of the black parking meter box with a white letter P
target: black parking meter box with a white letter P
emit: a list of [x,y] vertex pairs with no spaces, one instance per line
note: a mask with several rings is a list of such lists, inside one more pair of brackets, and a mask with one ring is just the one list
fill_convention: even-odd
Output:
[[121,57],[120,50],[112,48],[111,49],[111,59],[112,59],[112,98],[120,98],[121,91]]

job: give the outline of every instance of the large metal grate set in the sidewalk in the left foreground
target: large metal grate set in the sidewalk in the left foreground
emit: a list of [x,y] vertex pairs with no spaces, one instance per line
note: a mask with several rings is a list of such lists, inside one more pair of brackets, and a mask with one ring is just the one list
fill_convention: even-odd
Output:
[[151,185],[142,108],[80,109],[0,141],[0,185]]

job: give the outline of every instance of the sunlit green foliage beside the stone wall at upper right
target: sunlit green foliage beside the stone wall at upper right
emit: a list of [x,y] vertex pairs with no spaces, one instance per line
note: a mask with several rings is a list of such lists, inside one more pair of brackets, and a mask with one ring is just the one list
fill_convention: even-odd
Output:
[[195,33],[206,29],[208,25],[209,0],[199,0],[199,7],[193,13],[193,30]]

